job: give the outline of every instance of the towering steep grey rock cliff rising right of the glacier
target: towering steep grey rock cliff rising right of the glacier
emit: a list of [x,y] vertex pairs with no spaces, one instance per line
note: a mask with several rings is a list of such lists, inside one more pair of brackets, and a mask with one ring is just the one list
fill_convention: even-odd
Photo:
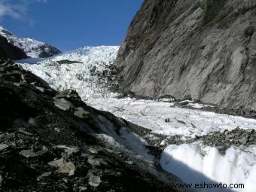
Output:
[[145,0],[115,66],[121,90],[256,110],[255,0]]

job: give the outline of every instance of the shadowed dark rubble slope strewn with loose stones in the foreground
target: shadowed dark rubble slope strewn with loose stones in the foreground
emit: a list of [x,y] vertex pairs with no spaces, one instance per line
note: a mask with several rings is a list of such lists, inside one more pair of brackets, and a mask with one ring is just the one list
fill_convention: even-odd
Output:
[[0,60],[0,93],[0,191],[176,191],[175,176],[99,140],[129,125],[74,90]]

